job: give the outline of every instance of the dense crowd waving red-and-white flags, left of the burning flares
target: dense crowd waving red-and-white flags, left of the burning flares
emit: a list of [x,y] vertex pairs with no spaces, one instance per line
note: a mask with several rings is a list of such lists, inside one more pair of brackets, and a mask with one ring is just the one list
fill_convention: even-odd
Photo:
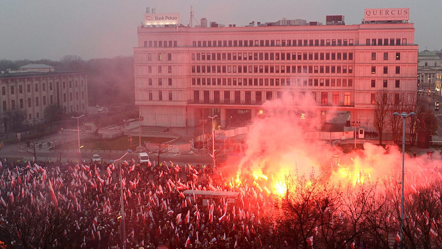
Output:
[[[0,210],[7,212],[18,198],[41,198],[71,209],[80,223],[76,227],[87,227],[81,248],[121,248],[122,215],[126,248],[258,248],[272,243],[260,235],[260,212],[271,205],[268,192],[223,178],[210,164],[2,160],[0,175]],[[184,195],[185,190],[239,195],[235,202],[203,202],[201,196]]]

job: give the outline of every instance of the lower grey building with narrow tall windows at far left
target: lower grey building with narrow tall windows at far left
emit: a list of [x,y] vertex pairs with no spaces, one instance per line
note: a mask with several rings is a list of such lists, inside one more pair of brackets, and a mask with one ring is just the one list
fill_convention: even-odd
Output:
[[59,105],[65,113],[86,112],[88,80],[81,72],[27,72],[0,74],[0,115],[4,131],[5,113],[23,109],[29,124],[45,121],[45,108]]

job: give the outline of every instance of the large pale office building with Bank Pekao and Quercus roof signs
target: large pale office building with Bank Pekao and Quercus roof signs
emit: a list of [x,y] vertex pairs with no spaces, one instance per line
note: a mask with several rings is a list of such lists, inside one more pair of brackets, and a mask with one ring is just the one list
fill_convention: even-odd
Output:
[[408,9],[366,9],[355,25],[327,16],[326,25],[204,20],[185,27],[176,16],[146,13],[138,27],[135,104],[143,125],[193,127],[217,115],[221,128],[238,127],[265,114],[264,102],[284,98],[284,108],[317,130],[329,113],[347,111],[374,131],[377,93],[416,93],[418,45]]

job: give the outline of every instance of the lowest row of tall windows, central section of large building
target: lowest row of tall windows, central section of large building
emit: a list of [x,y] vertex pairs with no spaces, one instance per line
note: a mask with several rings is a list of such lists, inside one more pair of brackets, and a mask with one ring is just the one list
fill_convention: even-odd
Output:
[[[230,91],[226,90],[223,91],[224,96],[222,96],[223,101],[221,100],[221,96],[220,93],[221,91],[219,90],[214,90],[213,92],[213,102],[215,103],[242,103],[241,100],[241,91],[234,91],[234,95],[233,98],[231,98],[230,96]],[[251,99],[251,93],[252,91],[244,91],[244,103],[248,104],[248,103],[262,103],[263,102],[263,92],[265,93],[265,101],[271,101],[273,100],[273,91],[254,91],[255,92],[255,99],[252,101]],[[339,102],[339,96],[341,95],[340,92],[331,92],[331,103],[329,103],[328,101],[328,97],[330,95],[330,92],[310,92],[310,97],[313,101],[317,102],[317,95],[318,93],[320,93],[320,103],[321,105],[329,105],[329,104],[333,104],[333,105],[351,105],[351,92],[343,92],[343,102]],[[284,92],[282,91],[276,91],[276,98],[277,99],[281,99],[282,95],[284,94]],[[292,99],[294,99],[294,92],[289,92],[288,94],[290,94],[290,96],[292,97]],[[299,101],[304,101],[306,98],[306,92],[301,91],[299,92]],[[199,103],[200,102],[200,91],[199,90],[194,90],[193,91],[193,101],[195,103]],[[203,103],[207,102],[210,103],[210,91],[209,90],[203,90],[203,99],[202,99]]]

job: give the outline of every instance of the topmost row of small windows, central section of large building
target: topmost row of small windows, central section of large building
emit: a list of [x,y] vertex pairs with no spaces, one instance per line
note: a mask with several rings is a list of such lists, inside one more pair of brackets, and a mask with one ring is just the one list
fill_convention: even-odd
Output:
[[192,47],[353,46],[353,39],[215,40],[192,41]]

